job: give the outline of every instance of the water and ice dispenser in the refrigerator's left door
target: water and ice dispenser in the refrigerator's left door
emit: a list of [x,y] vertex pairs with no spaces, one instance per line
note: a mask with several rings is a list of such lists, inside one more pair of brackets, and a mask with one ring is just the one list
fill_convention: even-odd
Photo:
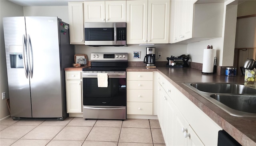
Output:
[[9,45],[11,68],[23,68],[22,45]]

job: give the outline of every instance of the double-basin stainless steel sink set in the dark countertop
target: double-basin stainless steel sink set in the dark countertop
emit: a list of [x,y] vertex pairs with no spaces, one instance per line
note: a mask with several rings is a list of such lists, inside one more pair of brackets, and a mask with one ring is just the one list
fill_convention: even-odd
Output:
[[256,89],[230,83],[183,83],[232,116],[256,118]]

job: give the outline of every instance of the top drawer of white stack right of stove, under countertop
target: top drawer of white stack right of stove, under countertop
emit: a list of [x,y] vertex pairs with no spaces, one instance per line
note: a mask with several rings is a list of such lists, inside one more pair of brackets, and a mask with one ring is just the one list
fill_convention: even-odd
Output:
[[152,71],[127,71],[127,80],[132,81],[153,81]]

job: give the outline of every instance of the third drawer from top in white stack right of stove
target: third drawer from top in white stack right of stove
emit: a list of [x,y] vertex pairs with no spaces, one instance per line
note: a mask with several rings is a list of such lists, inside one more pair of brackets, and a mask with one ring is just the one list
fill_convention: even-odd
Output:
[[148,102],[153,101],[153,90],[127,89],[127,102]]

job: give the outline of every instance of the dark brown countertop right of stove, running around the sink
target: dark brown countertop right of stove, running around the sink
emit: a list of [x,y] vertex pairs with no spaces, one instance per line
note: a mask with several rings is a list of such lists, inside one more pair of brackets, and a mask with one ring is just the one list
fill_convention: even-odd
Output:
[[226,75],[202,74],[197,69],[169,67],[150,69],[146,69],[146,67],[128,67],[126,71],[158,71],[240,144],[256,146],[256,118],[231,116],[182,84],[184,82],[244,83],[244,76],[228,77]]

